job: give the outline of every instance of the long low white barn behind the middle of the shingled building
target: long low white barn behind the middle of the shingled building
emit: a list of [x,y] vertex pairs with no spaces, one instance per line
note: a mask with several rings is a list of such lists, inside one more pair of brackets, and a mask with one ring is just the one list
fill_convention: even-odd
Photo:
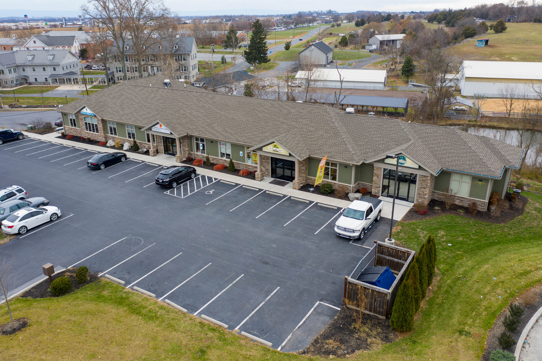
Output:
[[314,68],[312,72],[301,71],[295,75],[295,80],[305,85],[321,88],[340,88],[340,79],[343,79],[343,88],[384,88],[386,86],[386,70],[365,69],[328,69]]

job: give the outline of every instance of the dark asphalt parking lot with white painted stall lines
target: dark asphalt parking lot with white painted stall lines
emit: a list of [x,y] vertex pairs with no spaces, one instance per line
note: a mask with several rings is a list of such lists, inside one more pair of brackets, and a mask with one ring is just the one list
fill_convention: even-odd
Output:
[[[2,186],[43,196],[62,217],[0,246],[15,287],[56,269],[87,266],[296,351],[342,304],[349,275],[389,219],[363,241],[333,232],[340,208],[198,175],[176,189],[154,184],[162,166],[128,159],[86,167],[95,153],[37,139],[0,146]],[[129,156],[129,154],[128,154]]]

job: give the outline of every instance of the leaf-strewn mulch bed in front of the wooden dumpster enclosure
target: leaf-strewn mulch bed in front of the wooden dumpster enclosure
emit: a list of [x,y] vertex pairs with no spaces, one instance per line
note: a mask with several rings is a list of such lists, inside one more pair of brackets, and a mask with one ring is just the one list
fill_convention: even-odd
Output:
[[356,319],[346,308],[299,354],[311,356],[344,357],[359,350],[371,350],[398,339],[397,332],[390,327],[388,319],[363,315],[363,327],[354,327]]

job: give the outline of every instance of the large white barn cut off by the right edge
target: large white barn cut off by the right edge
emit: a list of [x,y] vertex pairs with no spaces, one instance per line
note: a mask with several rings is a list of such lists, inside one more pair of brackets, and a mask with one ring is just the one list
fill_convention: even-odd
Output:
[[463,61],[459,73],[461,95],[500,94],[514,87],[518,95],[536,96],[542,85],[542,62]]

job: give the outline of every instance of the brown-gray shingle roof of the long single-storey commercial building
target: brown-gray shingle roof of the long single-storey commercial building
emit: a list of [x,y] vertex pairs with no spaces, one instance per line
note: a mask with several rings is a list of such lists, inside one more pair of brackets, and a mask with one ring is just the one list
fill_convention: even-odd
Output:
[[[138,85],[151,78],[159,80],[158,86]],[[176,82],[165,88],[160,86],[163,77],[151,78],[103,89],[61,112],[87,106],[108,120],[144,127],[159,120],[179,137],[191,134],[251,146],[276,141],[299,159],[328,156],[360,164],[404,153],[435,175],[445,169],[500,178],[504,167],[517,167],[522,156],[518,147],[456,128],[347,114],[325,105],[174,88]]]

